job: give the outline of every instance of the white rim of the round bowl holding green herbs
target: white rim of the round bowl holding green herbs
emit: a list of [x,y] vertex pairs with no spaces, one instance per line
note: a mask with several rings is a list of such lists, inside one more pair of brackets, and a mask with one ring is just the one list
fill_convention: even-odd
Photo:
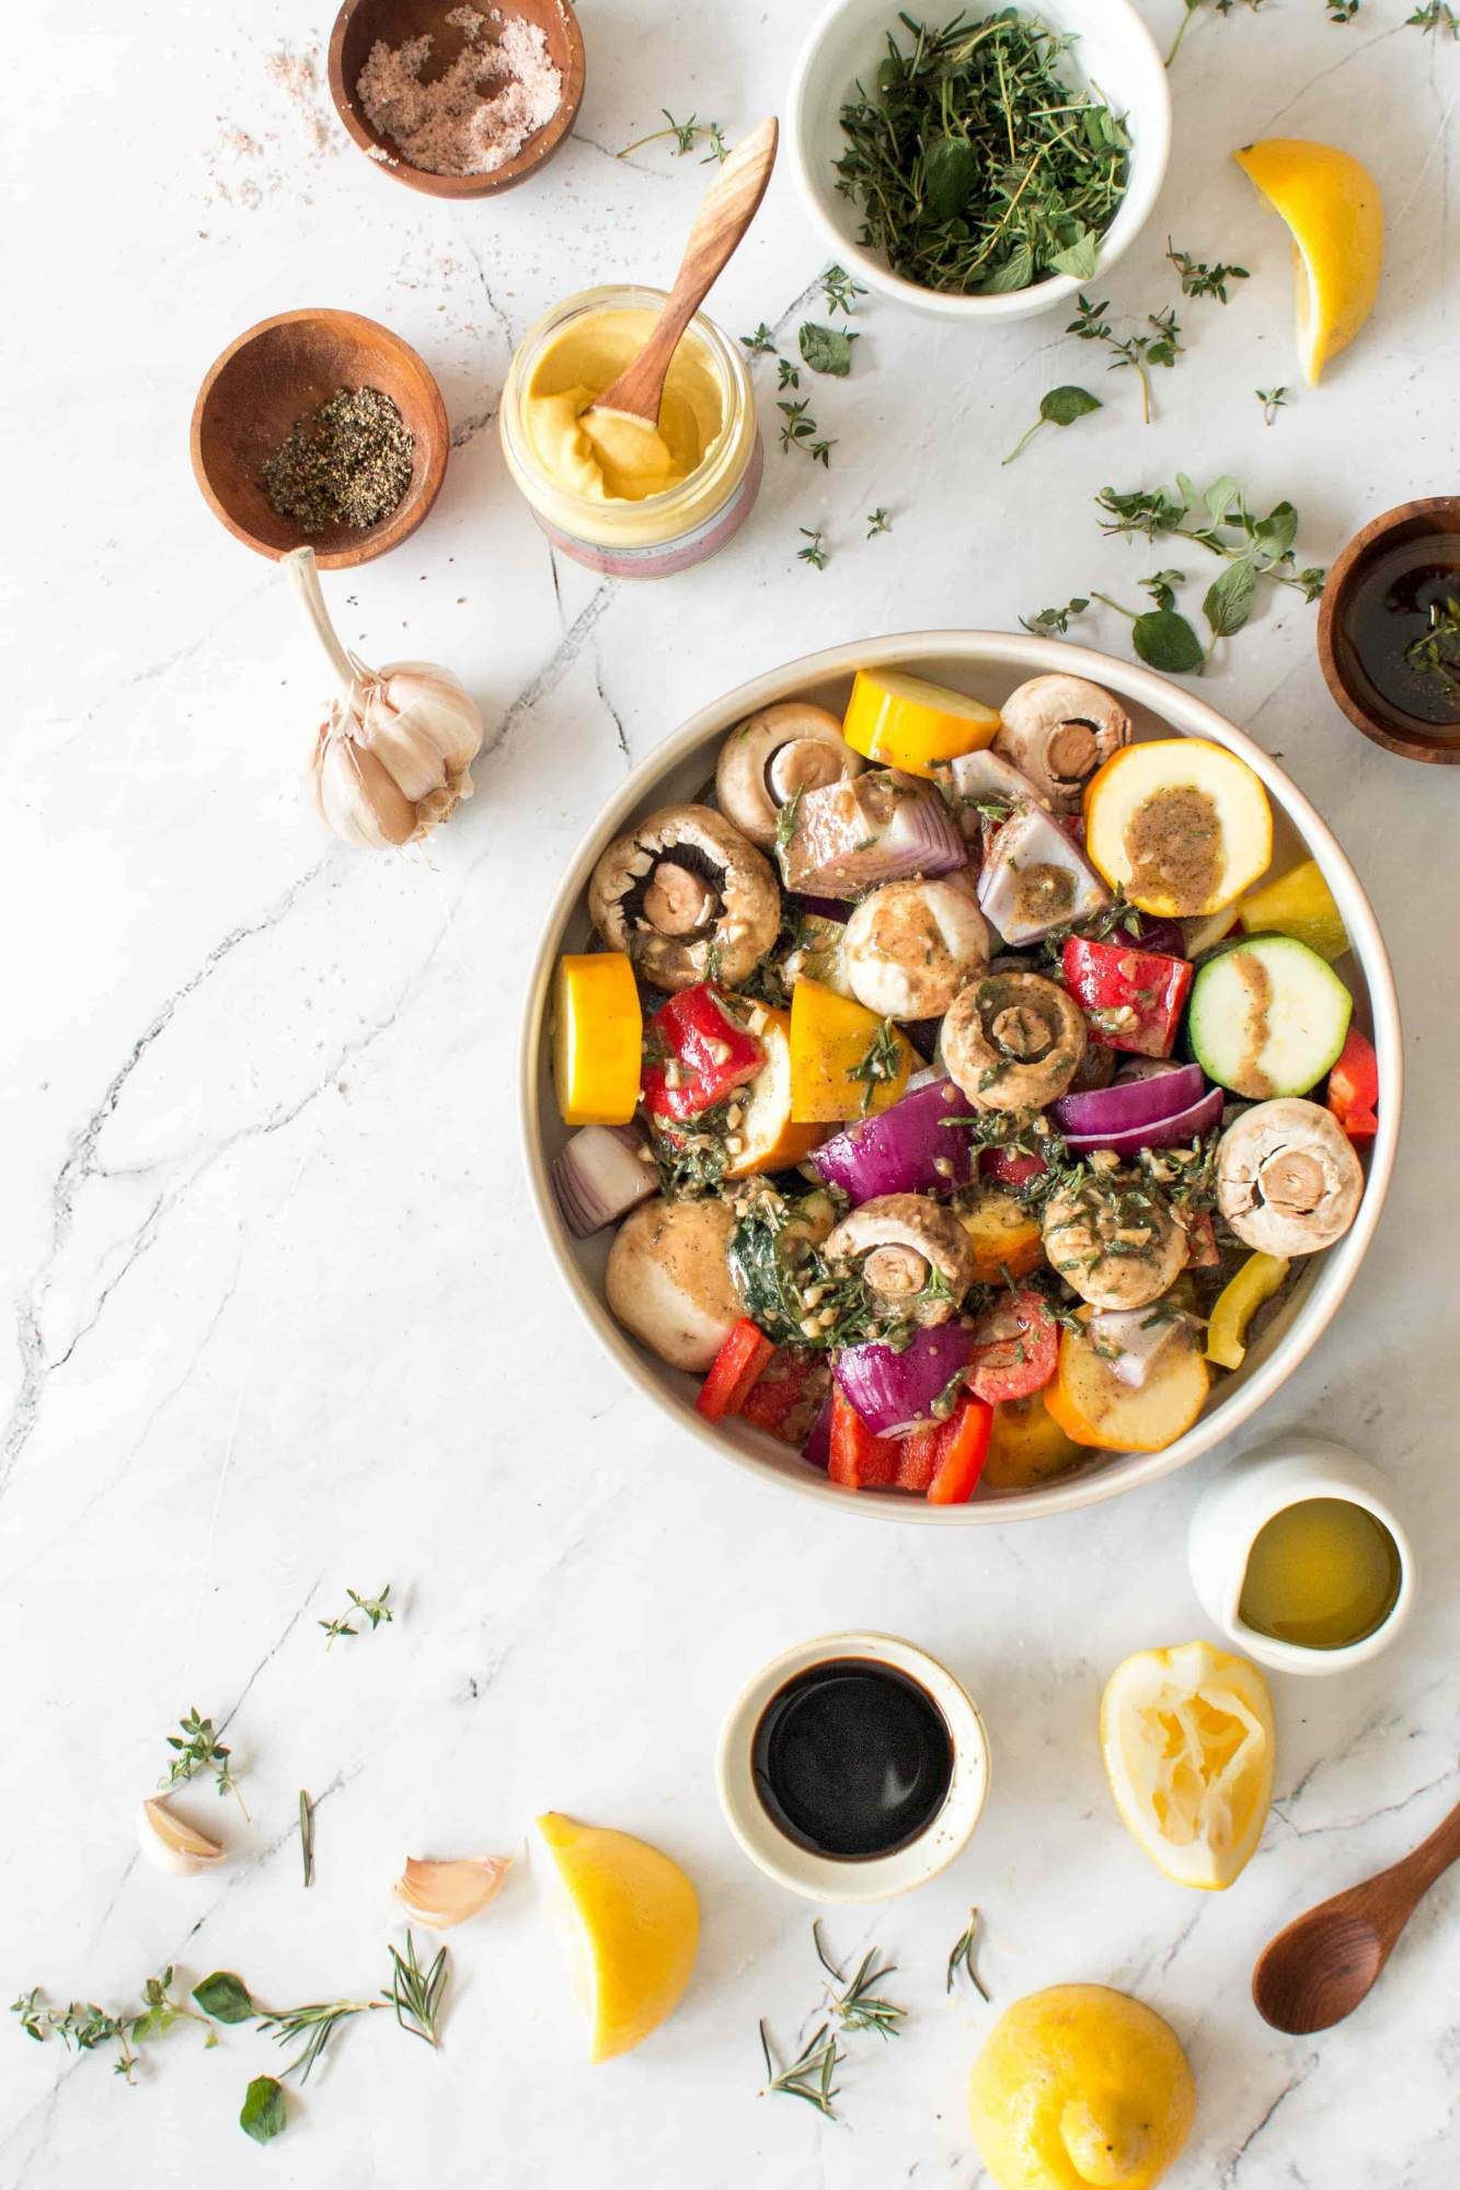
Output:
[[[833,22],[851,7],[853,0],[829,0],[820,11],[811,28],[807,31],[800,53],[791,66],[791,81],[787,88],[787,145],[791,153],[791,173],[796,175],[796,186],[800,191],[800,201],[807,208],[811,221],[820,230],[822,239],[837,254],[837,261],[848,267],[848,272],[864,274],[875,289],[890,296],[914,311],[925,311],[943,320],[965,320],[997,324],[1004,320],[1033,318],[1039,311],[1054,311],[1065,304],[1081,289],[1090,287],[1092,280],[1100,280],[1116,261],[1131,247],[1140,230],[1151,219],[1155,201],[1166,182],[1166,166],[1171,162],[1171,131],[1173,131],[1173,110],[1171,110],[1171,77],[1166,74],[1166,64],[1162,61],[1162,50],[1155,44],[1151,26],[1136,11],[1131,0],[1098,0],[1100,9],[1107,13],[1120,13],[1127,18],[1127,33],[1138,44],[1149,48],[1151,83],[1149,90],[1155,94],[1151,112],[1142,112],[1140,134],[1142,145],[1149,145],[1151,160],[1149,173],[1140,182],[1140,188],[1127,188],[1116,217],[1100,237],[1096,250],[1096,269],[1087,280],[1074,274],[1050,274],[1039,283],[1030,283],[1026,289],[1006,289],[997,296],[958,296],[943,289],[923,289],[919,283],[908,280],[905,274],[894,274],[875,252],[866,245],[853,243],[851,237],[842,234],[835,221],[826,219],[826,210],[818,197],[815,184],[811,180],[811,155],[809,136],[802,123],[805,105],[811,90],[811,79],[820,61],[822,44]],[[1039,13],[1037,4],[1030,9]],[[993,0],[989,13],[995,13]],[[890,0],[888,7],[888,28],[897,22],[897,4]]]

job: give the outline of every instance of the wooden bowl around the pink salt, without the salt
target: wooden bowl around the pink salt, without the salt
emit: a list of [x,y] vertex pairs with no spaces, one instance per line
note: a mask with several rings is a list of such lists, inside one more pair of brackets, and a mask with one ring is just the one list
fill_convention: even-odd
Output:
[[427,197],[495,197],[500,191],[515,191],[566,142],[583,103],[583,33],[570,0],[502,0],[493,11],[491,0],[476,0],[476,13],[487,15],[489,26],[500,28],[500,20],[524,22],[541,31],[546,59],[561,77],[561,92],[550,118],[535,129],[522,149],[500,166],[480,175],[441,175],[425,166],[412,166],[399,142],[379,129],[366,114],[360,94],[360,77],[377,46],[395,53],[414,37],[430,37],[430,53],[419,70],[421,85],[430,85],[460,59],[467,35],[458,22],[460,0],[344,0],[329,37],[329,94],[335,101],[340,120],[379,166],[381,175],[403,182],[408,191],[423,191]]

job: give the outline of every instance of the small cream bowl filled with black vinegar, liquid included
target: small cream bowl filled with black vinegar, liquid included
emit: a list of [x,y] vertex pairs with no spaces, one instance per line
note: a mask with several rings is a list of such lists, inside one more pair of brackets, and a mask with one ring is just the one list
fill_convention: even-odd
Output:
[[745,1684],[719,1741],[745,1855],[809,1901],[888,1901],[967,1846],[989,1737],[967,1688],[897,1636],[818,1636]]

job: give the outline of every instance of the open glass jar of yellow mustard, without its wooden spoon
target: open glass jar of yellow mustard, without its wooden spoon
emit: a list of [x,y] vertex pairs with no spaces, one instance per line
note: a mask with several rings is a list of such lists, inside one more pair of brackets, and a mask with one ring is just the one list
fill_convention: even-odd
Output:
[[524,337],[502,392],[506,469],[555,548],[612,578],[669,578],[723,548],[761,486],[761,434],[745,361],[697,313],[664,383],[658,431],[623,414],[585,418],[642,348],[662,289],[566,298]]

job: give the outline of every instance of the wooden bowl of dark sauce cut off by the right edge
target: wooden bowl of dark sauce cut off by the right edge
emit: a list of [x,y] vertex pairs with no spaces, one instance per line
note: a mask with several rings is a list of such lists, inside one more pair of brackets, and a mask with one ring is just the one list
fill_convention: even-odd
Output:
[[1318,661],[1375,745],[1460,764],[1460,495],[1401,502],[1348,541],[1318,611]]

